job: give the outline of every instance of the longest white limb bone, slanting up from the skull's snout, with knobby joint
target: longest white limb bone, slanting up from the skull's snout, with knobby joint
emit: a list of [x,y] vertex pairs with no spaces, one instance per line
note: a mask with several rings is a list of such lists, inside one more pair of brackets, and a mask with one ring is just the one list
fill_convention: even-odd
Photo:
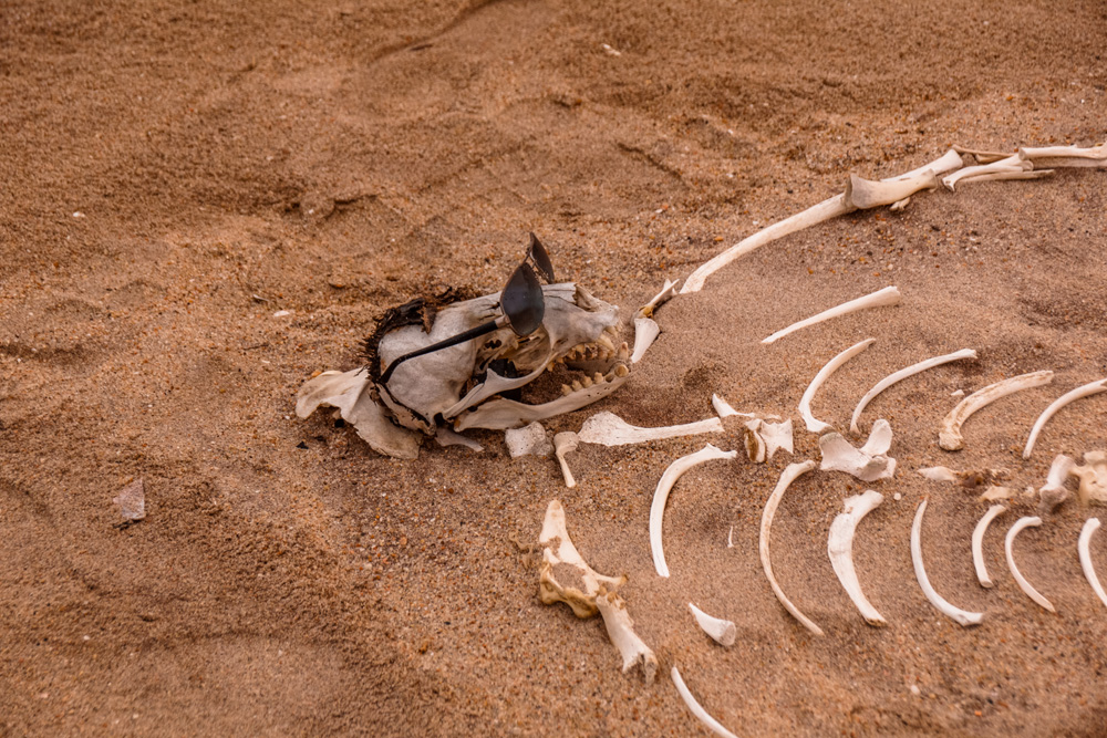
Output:
[[[961,166],[961,155],[955,150],[950,149],[933,162],[924,164],[918,169],[912,169],[911,171],[897,177],[888,177],[887,179],[880,180],[880,183],[908,181],[912,184],[913,189],[911,187],[900,188],[894,184],[880,189],[870,186],[879,185],[880,183],[861,180],[862,191],[856,194],[853,190],[857,187],[857,184],[855,183],[855,178],[850,177],[849,183],[846,185],[846,191],[841,195],[835,195],[834,197],[823,200],[817,205],[813,205],[801,212],[797,212],[796,215],[785,218],[784,220],[779,220],[772,226],[757,231],[753,236],[748,236],[747,238],[738,241],[722,253],[715,256],[710,261],[700,264],[700,267],[696,268],[696,270],[693,271],[686,280],[684,280],[684,287],[681,288],[681,294],[699,292],[703,289],[703,284],[708,277],[735,259],[745,256],[751,251],[765,246],[766,243],[770,243],[778,238],[784,238],[789,233],[795,233],[796,231],[803,230],[809,226],[824,222],[830,218],[852,212],[858,208],[877,207],[880,205],[892,205],[899,202],[907,199],[907,197],[914,191],[933,187],[935,175],[942,175],[952,169],[956,169]],[[860,178],[858,177],[857,179]],[[861,199],[865,205],[858,204],[857,199]]]

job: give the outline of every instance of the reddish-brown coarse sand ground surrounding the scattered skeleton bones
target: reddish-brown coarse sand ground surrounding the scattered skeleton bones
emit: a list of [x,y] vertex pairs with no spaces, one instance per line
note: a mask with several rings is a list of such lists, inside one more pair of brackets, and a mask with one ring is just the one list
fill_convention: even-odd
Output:
[[[653,488],[704,438],[584,447],[580,485],[487,446],[381,458],[329,416],[294,417],[311,374],[358,364],[390,305],[499,288],[537,231],[560,272],[630,310],[758,227],[953,144],[1107,138],[1101,2],[6,2],[0,8],[0,735],[706,735],[668,677],[741,735],[1104,735],[1107,610],[1075,501],[1024,532],[1018,591],[985,509],[919,467],[1008,470],[1107,446],[1107,395],[1020,456],[1038,413],[1107,374],[1107,177],[964,185],[751,254],[659,313],[664,333],[597,409],[640,425],[738,409],[797,417],[818,368],[865,337],[816,414],[839,427],[897,385],[900,471],[859,528],[866,625],[826,557],[841,474],[801,478],[774,563],[757,527],[796,454],[714,461],[674,490],[673,575],[652,568]],[[898,308],[793,335],[795,320],[896,284]],[[277,318],[278,311],[291,314]],[[629,313],[629,311],[628,311]],[[955,389],[1051,368],[1052,385],[937,446]],[[741,436],[711,438],[738,448]],[[145,482],[148,517],[112,498]],[[891,496],[899,492],[902,499]],[[915,583],[909,530],[965,630]],[[538,600],[534,555],[561,499],[589,561],[661,662],[623,675],[602,625]],[[726,548],[733,527],[735,548]],[[1107,572],[1107,539],[1093,553]],[[521,549],[520,549],[521,545]],[[685,603],[730,617],[699,633]]]

